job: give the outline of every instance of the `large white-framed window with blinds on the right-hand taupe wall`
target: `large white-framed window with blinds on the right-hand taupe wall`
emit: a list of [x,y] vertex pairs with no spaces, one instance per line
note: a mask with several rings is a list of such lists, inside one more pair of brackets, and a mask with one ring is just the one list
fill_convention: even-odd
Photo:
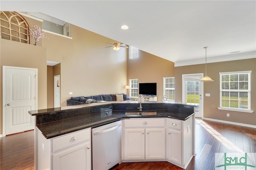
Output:
[[219,109],[250,111],[251,72],[252,71],[237,71],[220,73]]

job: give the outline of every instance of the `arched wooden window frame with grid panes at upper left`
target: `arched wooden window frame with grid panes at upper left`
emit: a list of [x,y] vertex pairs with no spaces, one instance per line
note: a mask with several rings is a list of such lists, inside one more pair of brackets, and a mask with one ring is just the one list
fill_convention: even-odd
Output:
[[0,12],[0,38],[30,43],[28,22],[17,12]]

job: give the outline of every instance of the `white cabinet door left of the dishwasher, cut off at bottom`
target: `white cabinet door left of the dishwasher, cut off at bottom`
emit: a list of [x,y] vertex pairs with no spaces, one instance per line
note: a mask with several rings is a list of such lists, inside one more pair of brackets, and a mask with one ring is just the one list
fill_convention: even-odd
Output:
[[90,170],[90,142],[53,154],[54,170]]

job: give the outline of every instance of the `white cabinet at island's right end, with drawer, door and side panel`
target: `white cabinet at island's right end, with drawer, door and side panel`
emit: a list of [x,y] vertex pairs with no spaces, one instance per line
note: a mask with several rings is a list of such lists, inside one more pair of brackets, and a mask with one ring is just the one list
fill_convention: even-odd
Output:
[[186,121],[167,119],[167,160],[184,169],[192,159],[192,117]]

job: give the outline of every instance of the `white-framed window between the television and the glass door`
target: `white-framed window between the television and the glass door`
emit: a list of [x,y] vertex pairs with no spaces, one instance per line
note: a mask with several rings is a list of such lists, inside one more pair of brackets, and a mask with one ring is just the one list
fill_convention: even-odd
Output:
[[174,77],[164,77],[164,97],[166,100],[175,100],[175,82]]

